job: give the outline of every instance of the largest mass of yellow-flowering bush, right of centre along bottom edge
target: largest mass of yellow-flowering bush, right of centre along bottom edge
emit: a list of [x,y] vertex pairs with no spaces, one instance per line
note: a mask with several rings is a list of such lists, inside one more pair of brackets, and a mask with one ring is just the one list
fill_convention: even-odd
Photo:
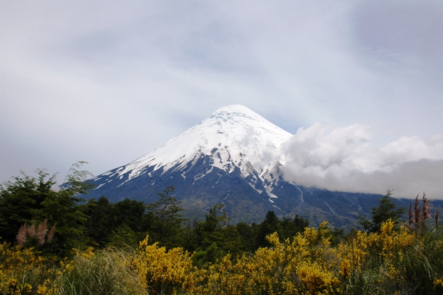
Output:
[[232,260],[225,256],[210,265],[205,294],[332,294],[339,292],[338,258],[330,247],[326,223],[306,229],[290,242],[277,233],[267,237],[272,247]]

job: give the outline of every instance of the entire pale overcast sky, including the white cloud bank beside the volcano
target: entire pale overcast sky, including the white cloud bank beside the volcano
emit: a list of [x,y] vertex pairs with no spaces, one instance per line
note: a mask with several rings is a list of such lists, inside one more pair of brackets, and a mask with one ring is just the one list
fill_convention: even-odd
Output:
[[[287,177],[443,198],[443,1],[0,0],[0,183],[94,175],[241,104]],[[300,160],[301,159],[301,160]]]

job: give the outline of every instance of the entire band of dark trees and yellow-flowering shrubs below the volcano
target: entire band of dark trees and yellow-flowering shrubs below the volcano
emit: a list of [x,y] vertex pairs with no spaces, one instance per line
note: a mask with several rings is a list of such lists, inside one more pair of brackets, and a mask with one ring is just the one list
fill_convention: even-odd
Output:
[[[80,199],[37,170],[0,188],[0,294],[442,294],[443,231],[423,193],[396,208],[388,191],[350,231],[269,211],[231,224],[222,204],[187,220],[172,186],[156,202]],[[432,211],[432,212],[431,212]]]

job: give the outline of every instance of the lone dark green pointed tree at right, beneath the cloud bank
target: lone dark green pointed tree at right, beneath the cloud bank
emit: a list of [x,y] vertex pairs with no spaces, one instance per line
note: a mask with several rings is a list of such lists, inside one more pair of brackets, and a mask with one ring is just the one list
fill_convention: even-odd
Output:
[[371,208],[371,219],[359,215],[359,224],[365,231],[377,232],[379,231],[381,224],[387,220],[392,220],[395,224],[398,224],[401,215],[405,213],[405,208],[397,208],[392,201],[392,190],[387,190],[386,195],[380,199],[380,204],[377,207]]

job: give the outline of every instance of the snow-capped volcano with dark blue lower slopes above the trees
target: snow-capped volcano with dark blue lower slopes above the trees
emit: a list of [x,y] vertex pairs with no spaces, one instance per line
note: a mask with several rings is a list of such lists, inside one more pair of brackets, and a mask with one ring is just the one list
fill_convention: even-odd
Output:
[[87,197],[153,202],[168,186],[188,217],[224,204],[233,222],[260,222],[267,211],[309,217],[336,226],[370,213],[379,195],[337,193],[284,181],[280,145],[291,138],[242,105],[217,109],[201,123],[143,157],[91,179]]

